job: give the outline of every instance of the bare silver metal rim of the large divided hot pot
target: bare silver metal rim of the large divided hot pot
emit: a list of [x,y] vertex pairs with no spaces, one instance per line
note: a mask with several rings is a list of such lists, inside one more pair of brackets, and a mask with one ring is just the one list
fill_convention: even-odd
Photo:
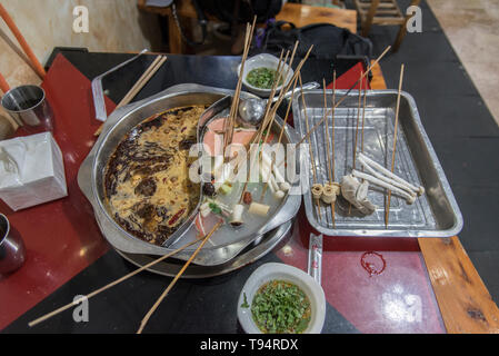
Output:
[[[179,85],[163,90],[150,98],[122,107],[116,110],[104,122],[103,130],[94,144],[92,150],[82,162],[78,184],[93,207],[96,220],[106,239],[118,250],[126,254],[140,255],[166,255],[173,250],[174,245],[180,244],[184,234],[192,228],[193,211],[189,219],[176,230],[163,246],[156,246],[143,241],[122,229],[110,216],[103,189],[104,169],[110,156],[123,138],[134,126],[154,113],[170,108],[190,105],[212,105],[221,98],[232,95],[233,91],[199,85]],[[241,97],[251,97],[241,93]],[[276,118],[275,130],[280,130],[283,121]],[[285,129],[283,144],[298,141],[296,131],[287,126]],[[229,261],[236,257],[248,245],[260,238],[263,234],[278,228],[292,219],[301,204],[300,195],[288,195],[280,204],[276,214],[270,216],[263,226],[248,236],[233,236],[233,240],[227,244],[209,246],[207,244],[193,263],[202,266],[216,266]],[[176,255],[176,258],[187,260],[196,246]]]

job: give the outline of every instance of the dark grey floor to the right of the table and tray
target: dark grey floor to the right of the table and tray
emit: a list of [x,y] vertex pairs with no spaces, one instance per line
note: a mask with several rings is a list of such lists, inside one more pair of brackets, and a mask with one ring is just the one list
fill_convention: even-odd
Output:
[[[399,3],[406,9],[410,1]],[[406,63],[403,90],[416,99],[465,219],[459,238],[499,304],[499,127],[426,1],[421,10],[422,32],[408,33],[381,69],[388,88],[397,88]],[[375,57],[392,44],[397,31],[372,27]]]

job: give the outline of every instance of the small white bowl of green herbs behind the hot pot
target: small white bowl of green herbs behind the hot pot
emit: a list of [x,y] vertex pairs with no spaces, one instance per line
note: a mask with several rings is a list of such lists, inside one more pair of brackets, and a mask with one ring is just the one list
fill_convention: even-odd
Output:
[[[244,62],[242,83],[249,91],[267,98],[272,91],[273,83],[279,79],[276,88],[276,95],[278,95],[282,87],[289,83],[295,73],[292,68],[285,65],[282,66],[282,75],[279,78],[278,66],[279,58],[269,53],[260,53],[248,58]],[[241,75],[241,65],[238,67],[238,75]]]

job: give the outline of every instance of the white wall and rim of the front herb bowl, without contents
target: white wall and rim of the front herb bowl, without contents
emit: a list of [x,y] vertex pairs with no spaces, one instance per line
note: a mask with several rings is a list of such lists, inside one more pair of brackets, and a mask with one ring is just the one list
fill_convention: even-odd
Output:
[[[262,334],[253,322],[251,303],[258,289],[270,280],[285,280],[295,284],[307,294],[310,300],[311,319],[303,334],[319,334],[326,318],[326,297],[322,287],[301,269],[285,264],[265,264],[258,267],[242,287],[238,300],[238,319],[247,334]],[[241,305],[246,299],[249,307]]]

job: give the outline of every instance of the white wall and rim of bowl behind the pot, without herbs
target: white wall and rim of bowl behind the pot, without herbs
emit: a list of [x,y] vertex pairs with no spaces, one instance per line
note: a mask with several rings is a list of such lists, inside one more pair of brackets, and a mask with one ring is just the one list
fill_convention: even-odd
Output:
[[[249,91],[256,93],[257,96],[268,98],[270,96],[270,92],[272,91],[271,89],[261,89],[261,88],[253,87],[250,83],[248,83],[248,81],[246,80],[246,77],[248,76],[248,73],[251,70],[253,70],[256,68],[266,67],[266,68],[277,70],[278,65],[279,65],[279,58],[277,58],[272,55],[269,55],[269,53],[261,53],[261,55],[257,55],[257,56],[247,58],[247,60],[244,62],[244,72],[242,73],[242,83]],[[286,73],[288,68],[289,68],[289,66],[285,65],[283,73]],[[238,66],[238,76],[240,76],[240,75],[241,75],[241,65]],[[289,68],[288,76],[286,77],[286,80],[283,80],[285,86],[287,83],[289,83],[289,81],[291,80],[293,75],[295,75],[295,71],[292,70],[292,68]],[[281,89],[282,89],[282,85],[277,87],[276,95],[278,95]]]

